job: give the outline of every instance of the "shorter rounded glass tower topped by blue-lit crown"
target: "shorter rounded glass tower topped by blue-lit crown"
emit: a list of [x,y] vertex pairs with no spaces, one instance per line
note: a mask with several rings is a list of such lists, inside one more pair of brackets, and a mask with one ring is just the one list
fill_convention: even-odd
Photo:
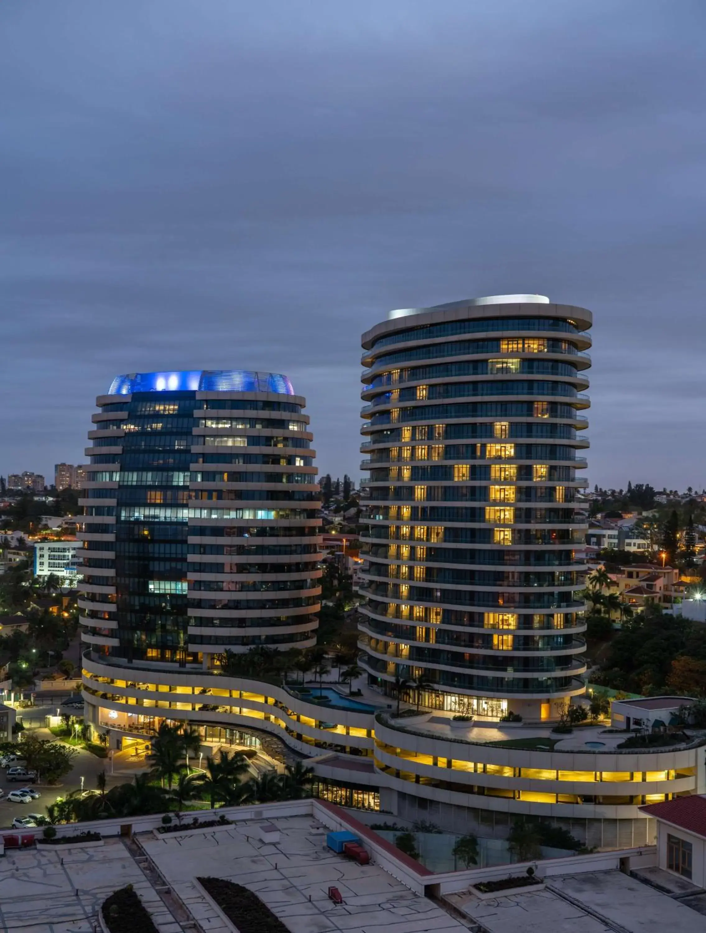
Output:
[[82,503],[89,658],[210,670],[307,648],[319,487],[305,400],[275,373],[118,376],[97,400]]

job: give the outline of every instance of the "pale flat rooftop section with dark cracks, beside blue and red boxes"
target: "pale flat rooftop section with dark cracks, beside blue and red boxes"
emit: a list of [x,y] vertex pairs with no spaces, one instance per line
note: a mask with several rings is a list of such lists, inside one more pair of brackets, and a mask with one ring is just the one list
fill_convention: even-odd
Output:
[[[256,824],[273,823],[276,844],[260,842]],[[212,833],[159,839],[140,837],[159,872],[179,892],[197,920],[215,925],[197,875],[244,884],[281,917],[292,933],[461,933],[465,927],[428,898],[410,891],[377,865],[357,865],[326,848],[323,824],[310,815],[247,820]],[[328,898],[338,887],[345,904]]]

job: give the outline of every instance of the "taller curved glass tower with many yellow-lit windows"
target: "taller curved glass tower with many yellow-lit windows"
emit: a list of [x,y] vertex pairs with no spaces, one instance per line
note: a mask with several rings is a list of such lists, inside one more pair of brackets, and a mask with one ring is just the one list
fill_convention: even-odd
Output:
[[480,717],[582,693],[591,314],[510,295],[393,312],[363,336],[361,593],[370,682]]

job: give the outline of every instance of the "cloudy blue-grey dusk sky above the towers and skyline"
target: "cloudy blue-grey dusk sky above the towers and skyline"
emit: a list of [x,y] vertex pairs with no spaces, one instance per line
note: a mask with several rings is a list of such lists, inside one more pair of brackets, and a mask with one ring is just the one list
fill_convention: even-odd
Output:
[[594,314],[591,485],[706,485],[703,0],[4,0],[0,473],[118,373],[266,369],[360,477],[360,335]]

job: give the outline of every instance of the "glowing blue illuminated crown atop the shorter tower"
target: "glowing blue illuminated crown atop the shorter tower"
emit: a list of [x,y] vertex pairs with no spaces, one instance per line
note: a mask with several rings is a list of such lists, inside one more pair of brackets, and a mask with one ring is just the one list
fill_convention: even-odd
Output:
[[129,396],[133,392],[276,392],[293,396],[292,383],[278,372],[247,369],[190,369],[187,372],[129,372],[116,376],[108,395]]

